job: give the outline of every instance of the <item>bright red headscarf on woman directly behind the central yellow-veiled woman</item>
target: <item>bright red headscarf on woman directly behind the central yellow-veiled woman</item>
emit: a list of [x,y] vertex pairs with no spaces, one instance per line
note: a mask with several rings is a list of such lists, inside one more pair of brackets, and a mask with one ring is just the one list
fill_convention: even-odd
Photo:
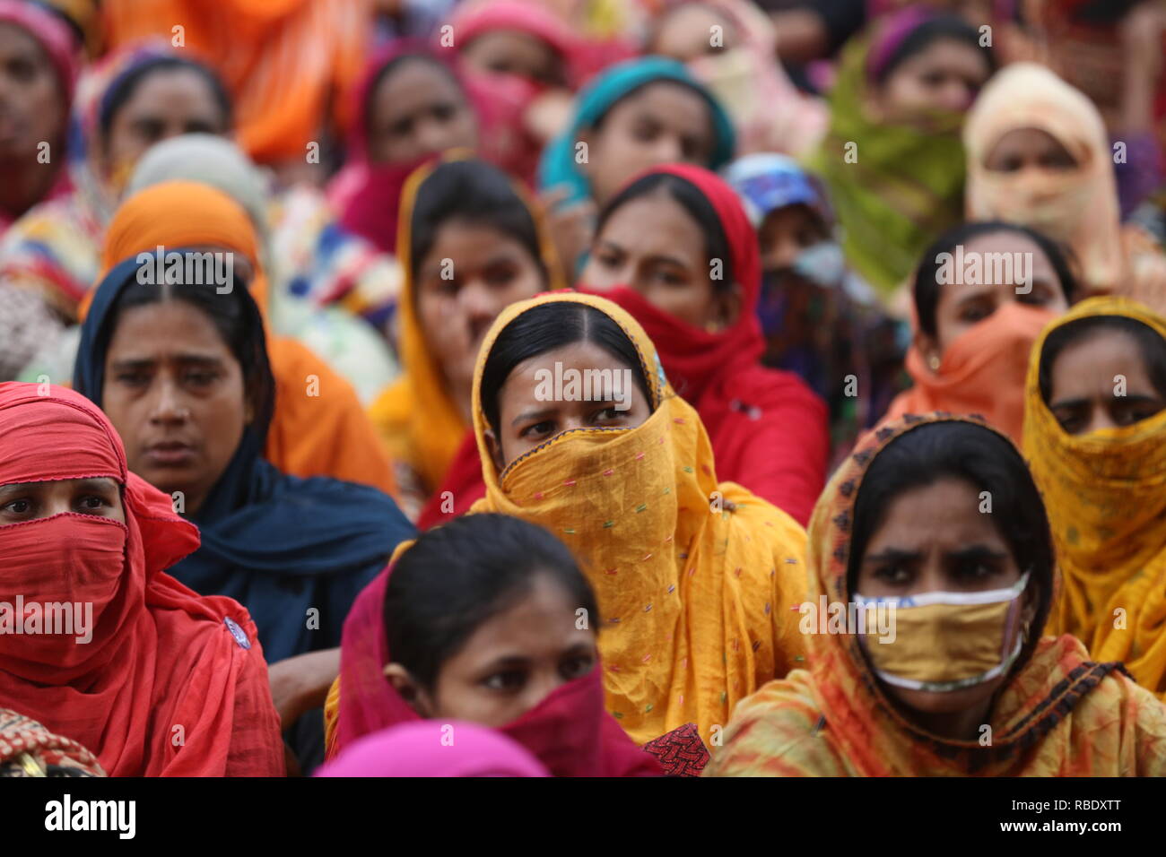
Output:
[[765,340],[757,318],[761,290],[757,236],[736,191],[709,170],[677,163],[642,175],[656,173],[689,182],[716,211],[729,243],[733,280],[742,289],[737,321],[709,332],[656,309],[630,287],[599,290],[581,283],[577,288],[614,301],[644,326],[672,386],[701,415],[717,476],[744,485],[805,526],[826,484],[827,410],[798,375],[760,365]]

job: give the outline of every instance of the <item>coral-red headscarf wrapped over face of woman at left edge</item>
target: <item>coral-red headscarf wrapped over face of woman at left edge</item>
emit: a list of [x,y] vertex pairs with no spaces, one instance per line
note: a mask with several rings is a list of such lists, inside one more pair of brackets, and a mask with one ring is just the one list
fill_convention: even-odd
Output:
[[5,637],[0,707],[87,747],[113,777],[282,775],[254,624],[163,574],[198,548],[198,531],[127,471],[105,415],[72,391],[0,384],[0,485],[110,477],[126,517],[0,526],[0,602],[92,605],[89,641]]

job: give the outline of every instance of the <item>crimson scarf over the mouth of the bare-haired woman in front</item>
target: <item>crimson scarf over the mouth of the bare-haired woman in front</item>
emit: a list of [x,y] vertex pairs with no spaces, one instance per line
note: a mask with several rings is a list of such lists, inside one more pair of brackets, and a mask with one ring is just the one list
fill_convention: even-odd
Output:
[[[385,590],[392,569],[357,596],[340,641],[340,705],[328,757],[357,738],[422,719],[385,677],[391,662],[385,634]],[[597,665],[497,730],[529,750],[555,777],[652,777],[660,766],[640,750],[603,707]]]

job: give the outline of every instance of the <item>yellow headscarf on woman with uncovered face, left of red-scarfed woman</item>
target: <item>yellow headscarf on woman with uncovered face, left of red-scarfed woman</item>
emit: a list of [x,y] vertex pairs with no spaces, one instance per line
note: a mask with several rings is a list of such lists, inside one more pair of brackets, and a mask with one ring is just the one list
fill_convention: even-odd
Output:
[[[427,492],[436,491],[470,427],[445,388],[441,366],[426,342],[415,304],[413,265],[409,259],[413,232],[413,209],[417,194],[433,171],[448,161],[465,160],[469,153],[450,152],[435,163],[419,167],[401,192],[401,216],[398,219],[396,255],[405,274],[398,303],[400,332],[398,352],[401,375],[372,403],[368,415],[388,447],[394,462],[403,462],[421,476]],[[550,282],[550,289],[562,288],[560,266],[542,217],[526,192],[511,185],[526,203],[534,218],[539,247]]]

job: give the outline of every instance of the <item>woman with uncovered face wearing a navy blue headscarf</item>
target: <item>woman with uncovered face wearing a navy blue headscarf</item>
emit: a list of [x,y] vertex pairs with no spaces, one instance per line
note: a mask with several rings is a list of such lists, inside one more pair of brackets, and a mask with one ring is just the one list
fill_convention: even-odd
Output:
[[[141,253],[115,266],[82,326],[73,387],[108,415],[129,469],[198,525],[202,546],[169,572],[247,607],[287,726],[312,707],[308,689],[335,677],[326,649],[352,600],[415,531],[375,489],[288,476],[262,458],[275,395],[264,323],[241,272],[225,290],[203,276],[212,255]],[[307,653],[317,654],[280,663]],[[297,698],[278,693],[285,674]],[[322,739],[310,716],[290,738],[308,767]]]

